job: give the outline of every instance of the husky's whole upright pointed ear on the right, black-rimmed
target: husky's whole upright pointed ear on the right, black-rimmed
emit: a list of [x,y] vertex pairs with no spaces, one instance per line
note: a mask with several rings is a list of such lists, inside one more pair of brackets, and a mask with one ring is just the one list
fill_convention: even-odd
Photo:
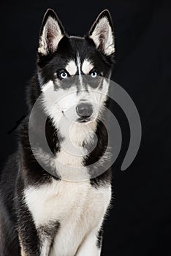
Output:
[[96,48],[106,56],[110,56],[115,52],[113,22],[108,10],[104,10],[96,18],[88,37],[94,40]]

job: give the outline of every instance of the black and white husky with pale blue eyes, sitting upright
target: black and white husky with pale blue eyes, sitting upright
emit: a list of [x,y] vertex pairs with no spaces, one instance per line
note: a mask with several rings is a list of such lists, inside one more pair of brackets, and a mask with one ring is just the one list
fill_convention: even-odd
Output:
[[[18,130],[18,151],[1,173],[1,256],[100,255],[111,174],[110,169],[94,173],[107,158],[102,118],[109,105],[114,51],[107,10],[86,37],[69,37],[56,13],[45,13],[37,72],[28,86],[28,117]],[[39,114],[29,124],[37,99]],[[53,157],[41,145],[44,117]],[[95,138],[96,146],[88,151]],[[78,154],[66,150],[71,141]]]

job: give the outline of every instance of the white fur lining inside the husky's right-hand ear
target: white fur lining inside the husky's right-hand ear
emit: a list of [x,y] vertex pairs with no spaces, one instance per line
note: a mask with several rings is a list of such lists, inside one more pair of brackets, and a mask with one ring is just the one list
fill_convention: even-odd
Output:
[[[90,37],[94,40],[96,48],[99,48],[99,45],[102,44],[104,53],[107,56],[115,52],[113,31],[106,17],[99,20]],[[104,38],[102,42],[100,41],[100,37]]]

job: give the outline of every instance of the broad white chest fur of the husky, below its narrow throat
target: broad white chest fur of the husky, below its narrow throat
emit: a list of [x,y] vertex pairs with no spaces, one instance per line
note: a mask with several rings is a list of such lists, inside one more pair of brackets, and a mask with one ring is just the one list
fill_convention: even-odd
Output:
[[75,255],[83,238],[91,230],[99,230],[110,197],[110,186],[96,189],[89,181],[53,180],[52,184],[29,187],[24,192],[37,228],[50,220],[60,223],[50,256]]

